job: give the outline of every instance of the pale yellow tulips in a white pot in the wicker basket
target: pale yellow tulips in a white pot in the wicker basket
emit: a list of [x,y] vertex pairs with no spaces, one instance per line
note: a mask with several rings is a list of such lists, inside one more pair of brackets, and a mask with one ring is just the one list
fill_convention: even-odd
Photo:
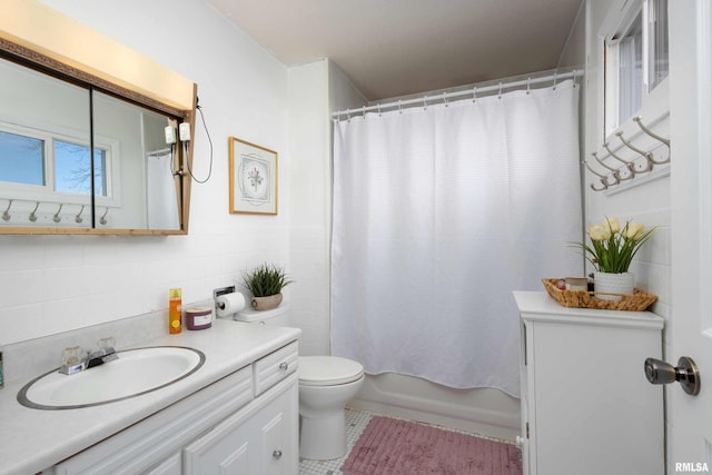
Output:
[[[591,246],[583,243],[576,245],[595,268],[594,290],[605,294],[632,294],[634,276],[629,271],[629,267],[654,230],[655,228],[645,230],[645,226],[633,221],[626,221],[621,228],[619,218],[605,218],[602,225],[591,225]],[[621,299],[620,296],[600,294],[596,297],[606,300]]]

